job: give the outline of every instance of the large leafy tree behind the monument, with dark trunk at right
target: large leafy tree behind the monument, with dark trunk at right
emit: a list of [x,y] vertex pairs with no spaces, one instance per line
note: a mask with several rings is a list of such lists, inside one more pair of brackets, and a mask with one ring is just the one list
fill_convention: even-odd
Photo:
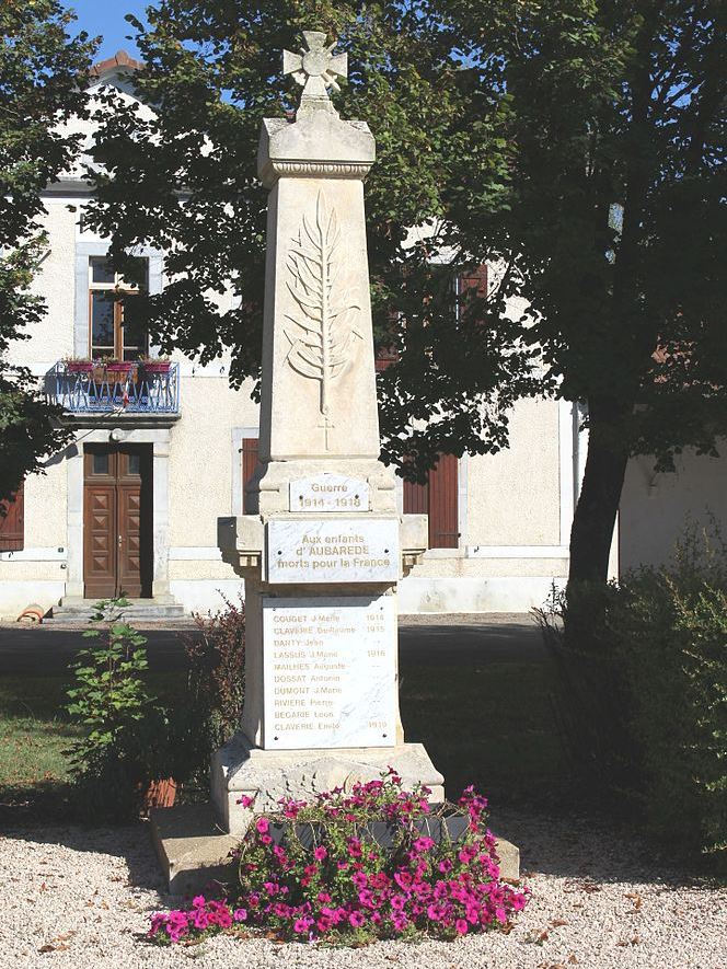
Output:
[[[602,581],[630,454],[713,452],[727,426],[724,16],[714,0],[162,0],[149,27],[132,20],[159,113],[114,105],[96,226],[122,268],[135,244],[169,247],[173,281],[134,301],[164,346],[203,360],[232,346],[233,381],[257,374],[259,120],[291,106],[279,50],[304,27],[338,36],[353,69],[338,106],[379,150],[374,324],[399,357],[381,379],[384,457],[422,473],[440,451],[505,446],[518,396],[584,402],[572,578]],[[413,226],[427,231],[407,239]],[[455,304],[452,275],[484,261],[488,297]],[[230,278],[239,307],[220,312]]]

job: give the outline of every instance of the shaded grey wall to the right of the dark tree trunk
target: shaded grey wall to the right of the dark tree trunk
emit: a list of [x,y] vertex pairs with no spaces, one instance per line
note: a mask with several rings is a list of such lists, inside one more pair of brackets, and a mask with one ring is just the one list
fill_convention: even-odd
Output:
[[677,472],[655,474],[654,459],[632,458],[621,496],[620,568],[666,562],[688,517],[707,524],[709,514],[727,538],[727,440],[719,458],[685,451],[676,459]]

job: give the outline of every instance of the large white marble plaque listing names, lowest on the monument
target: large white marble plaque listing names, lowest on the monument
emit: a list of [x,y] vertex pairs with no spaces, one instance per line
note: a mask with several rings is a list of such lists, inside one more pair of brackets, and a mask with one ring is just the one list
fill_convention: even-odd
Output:
[[395,746],[395,604],[263,600],[266,749]]

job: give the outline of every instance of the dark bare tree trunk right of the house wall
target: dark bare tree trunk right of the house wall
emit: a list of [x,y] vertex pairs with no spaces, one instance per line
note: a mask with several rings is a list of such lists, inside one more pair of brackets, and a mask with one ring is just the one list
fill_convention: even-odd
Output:
[[609,399],[588,402],[588,457],[570,531],[570,582],[605,585],[628,450],[623,419],[631,408]]

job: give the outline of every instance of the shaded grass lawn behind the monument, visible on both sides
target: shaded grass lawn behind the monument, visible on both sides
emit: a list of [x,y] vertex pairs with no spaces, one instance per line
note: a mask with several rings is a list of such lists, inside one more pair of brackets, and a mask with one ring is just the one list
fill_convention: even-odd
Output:
[[[457,797],[475,784],[494,805],[558,799],[566,765],[551,706],[550,665],[512,661],[431,667],[409,658],[401,668],[401,710],[407,740],[425,743]],[[148,674],[155,695],[181,702],[182,671]],[[77,736],[64,711],[68,673],[0,677],[0,809],[62,814],[68,761]]]

